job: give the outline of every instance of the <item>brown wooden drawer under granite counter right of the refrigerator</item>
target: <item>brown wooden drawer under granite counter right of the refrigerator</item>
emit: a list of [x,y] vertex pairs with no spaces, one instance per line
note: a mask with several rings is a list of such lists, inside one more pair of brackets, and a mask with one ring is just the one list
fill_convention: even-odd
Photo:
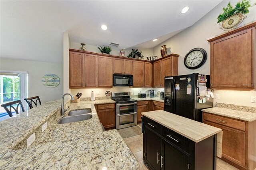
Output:
[[229,126],[229,127],[240,129],[240,130],[245,130],[245,122],[230,119],[230,118],[227,118],[227,117],[208,114],[206,112],[203,112],[203,113],[204,113],[203,114],[204,120],[208,120],[210,122],[214,122],[214,123],[217,123],[217,124],[222,124],[224,126]]

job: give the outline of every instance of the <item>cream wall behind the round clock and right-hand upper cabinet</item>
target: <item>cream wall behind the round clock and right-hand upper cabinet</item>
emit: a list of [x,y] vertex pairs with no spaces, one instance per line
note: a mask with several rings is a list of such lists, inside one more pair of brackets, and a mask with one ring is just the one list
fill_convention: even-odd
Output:
[[[234,6],[237,0],[231,1]],[[167,55],[170,53],[180,54],[179,57],[179,75],[191,74],[198,72],[200,74],[210,74],[210,45],[207,41],[208,38],[224,33],[220,29],[220,25],[217,24],[217,17],[222,13],[222,8],[226,7],[228,1],[223,1],[198,22],[196,22],[190,28],[176,34],[174,37],[166,40],[165,42],[154,47],[154,56],[161,56],[160,49],[162,45],[166,45],[166,48],[170,48]],[[252,4],[252,2],[251,2]],[[244,20],[244,23],[249,23],[256,20],[256,6],[249,8],[249,14]],[[175,24],[175,23],[174,23]],[[204,48],[208,54],[206,63],[196,69],[190,70],[184,66],[184,57],[187,52],[193,48]],[[229,104],[237,104],[244,106],[256,107],[255,103],[251,103],[251,96],[256,96],[256,91],[229,91],[229,90],[214,90],[215,94],[220,94],[220,99],[214,99],[214,105],[216,102],[223,102]]]

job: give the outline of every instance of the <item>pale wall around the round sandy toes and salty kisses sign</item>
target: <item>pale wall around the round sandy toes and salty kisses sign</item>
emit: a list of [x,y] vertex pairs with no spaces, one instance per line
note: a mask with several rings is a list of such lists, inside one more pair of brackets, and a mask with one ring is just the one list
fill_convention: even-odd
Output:
[[[0,70],[28,71],[28,97],[39,96],[42,103],[62,97],[63,64],[0,58]],[[47,88],[42,84],[42,77],[49,73],[60,78],[60,84],[55,88]]]

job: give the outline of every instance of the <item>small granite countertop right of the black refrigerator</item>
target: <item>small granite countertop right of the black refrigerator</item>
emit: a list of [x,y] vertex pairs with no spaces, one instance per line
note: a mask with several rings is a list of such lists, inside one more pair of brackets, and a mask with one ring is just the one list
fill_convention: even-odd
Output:
[[244,120],[248,122],[253,122],[254,120],[256,120],[256,113],[253,113],[253,112],[244,112],[241,110],[233,110],[233,109],[222,108],[222,107],[208,108],[208,109],[203,109],[202,111],[212,113],[212,114],[217,114],[220,116],[226,116],[229,118]]

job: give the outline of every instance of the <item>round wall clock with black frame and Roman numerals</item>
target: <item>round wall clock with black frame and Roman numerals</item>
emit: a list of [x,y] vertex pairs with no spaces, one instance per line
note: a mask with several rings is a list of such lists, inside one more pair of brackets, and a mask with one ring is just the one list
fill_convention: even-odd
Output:
[[196,69],[204,65],[206,59],[207,53],[203,48],[194,48],[186,54],[184,65],[186,68]]

